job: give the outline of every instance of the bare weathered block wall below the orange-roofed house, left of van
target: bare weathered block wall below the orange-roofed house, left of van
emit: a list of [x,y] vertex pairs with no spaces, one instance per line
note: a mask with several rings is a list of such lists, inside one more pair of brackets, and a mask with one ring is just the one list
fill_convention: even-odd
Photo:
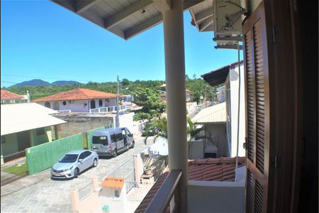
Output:
[[58,128],[60,138],[84,133],[101,126],[114,126],[113,116],[60,116],[57,114],[55,117],[67,121],[66,124],[60,124]]

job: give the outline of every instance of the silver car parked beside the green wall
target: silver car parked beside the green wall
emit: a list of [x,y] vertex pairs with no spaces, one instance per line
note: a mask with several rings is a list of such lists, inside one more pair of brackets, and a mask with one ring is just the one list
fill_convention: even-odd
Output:
[[99,155],[94,151],[71,151],[52,166],[51,175],[52,178],[77,178],[87,168],[96,167],[98,161]]

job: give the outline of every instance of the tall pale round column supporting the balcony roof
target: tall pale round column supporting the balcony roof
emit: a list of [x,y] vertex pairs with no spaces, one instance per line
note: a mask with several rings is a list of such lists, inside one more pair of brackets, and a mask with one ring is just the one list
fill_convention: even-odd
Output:
[[171,10],[163,12],[163,23],[169,169],[183,171],[179,190],[181,209],[178,212],[187,212],[187,131],[182,1],[171,1]]

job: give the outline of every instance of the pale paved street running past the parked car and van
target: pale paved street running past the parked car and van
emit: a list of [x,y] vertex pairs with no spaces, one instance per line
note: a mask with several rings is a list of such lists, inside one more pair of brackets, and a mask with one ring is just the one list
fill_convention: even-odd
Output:
[[135,147],[116,158],[99,159],[96,168],[87,170],[77,179],[51,180],[49,169],[5,185],[6,188],[1,187],[1,191],[5,191],[17,185],[26,185],[21,190],[1,196],[1,212],[71,212],[70,191],[86,185],[91,181],[92,175],[96,175],[101,181],[124,160],[145,150],[147,146],[143,140],[142,137],[135,138]]

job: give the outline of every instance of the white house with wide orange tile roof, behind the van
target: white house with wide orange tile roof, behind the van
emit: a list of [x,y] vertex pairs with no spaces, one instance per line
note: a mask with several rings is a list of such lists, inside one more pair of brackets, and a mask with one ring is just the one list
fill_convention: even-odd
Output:
[[54,110],[89,112],[90,109],[116,106],[116,94],[82,88],[34,99],[32,102]]

